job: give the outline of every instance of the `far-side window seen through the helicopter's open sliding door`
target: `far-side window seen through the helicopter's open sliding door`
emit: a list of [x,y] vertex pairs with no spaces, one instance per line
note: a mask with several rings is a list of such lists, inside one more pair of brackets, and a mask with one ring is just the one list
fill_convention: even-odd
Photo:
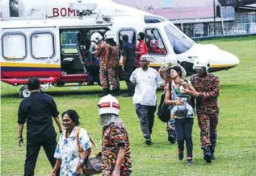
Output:
[[79,31],[61,32],[61,51],[64,54],[77,54],[77,41]]

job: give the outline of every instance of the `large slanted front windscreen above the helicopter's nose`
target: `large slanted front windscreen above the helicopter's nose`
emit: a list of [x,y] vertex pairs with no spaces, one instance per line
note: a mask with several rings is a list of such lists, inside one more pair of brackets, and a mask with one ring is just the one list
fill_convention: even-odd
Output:
[[181,54],[188,51],[193,45],[194,41],[183,35],[181,31],[172,27],[170,24],[165,26],[166,35],[174,48],[175,54]]

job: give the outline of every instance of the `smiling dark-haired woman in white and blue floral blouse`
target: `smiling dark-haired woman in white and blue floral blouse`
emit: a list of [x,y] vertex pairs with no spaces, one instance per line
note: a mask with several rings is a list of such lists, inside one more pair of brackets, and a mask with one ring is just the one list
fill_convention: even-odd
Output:
[[[90,138],[86,129],[78,127],[79,117],[74,110],[67,110],[62,113],[62,121],[65,130],[59,138],[54,153],[57,162],[50,175],[55,176],[60,166],[61,176],[82,175],[82,165],[90,155]],[[79,134],[78,130],[80,130]],[[83,151],[81,158],[78,143]]]

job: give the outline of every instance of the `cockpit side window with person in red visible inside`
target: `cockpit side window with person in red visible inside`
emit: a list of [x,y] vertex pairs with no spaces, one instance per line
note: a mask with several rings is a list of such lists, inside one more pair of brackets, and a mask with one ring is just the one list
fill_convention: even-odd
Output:
[[145,31],[145,43],[149,48],[149,55],[166,55],[166,46],[159,31],[155,28]]

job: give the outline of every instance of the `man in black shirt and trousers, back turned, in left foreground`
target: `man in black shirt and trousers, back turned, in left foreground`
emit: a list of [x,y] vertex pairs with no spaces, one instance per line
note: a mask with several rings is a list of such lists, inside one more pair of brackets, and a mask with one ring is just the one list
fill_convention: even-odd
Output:
[[34,175],[41,146],[43,146],[52,168],[55,165],[56,159],[53,155],[57,146],[57,133],[52,125],[52,117],[54,117],[60,133],[62,133],[62,128],[57,105],[52,96],[40,93],[40,80],[30,78],[27,88],[31,92],[31,96],[25,98],[19,104],[18,144],[19,146],[23,144],[23,126],[27,121],[27,153],[24,175],[31,176]]

